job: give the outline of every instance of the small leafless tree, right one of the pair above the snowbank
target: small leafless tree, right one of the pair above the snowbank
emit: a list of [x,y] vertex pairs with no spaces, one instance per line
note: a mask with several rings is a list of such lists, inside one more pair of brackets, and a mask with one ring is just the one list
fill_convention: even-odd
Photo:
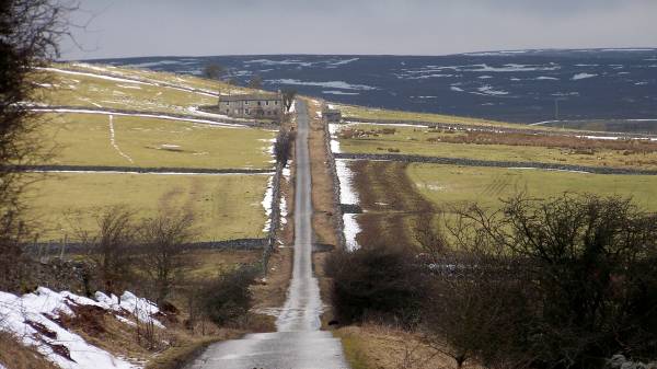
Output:
[[191,214],[160,214],[146,219],[140,226],[141,255],[138,265],[153,287],[157,303],[171,293],[182,268],[186,265],[185,246],[195,232]]

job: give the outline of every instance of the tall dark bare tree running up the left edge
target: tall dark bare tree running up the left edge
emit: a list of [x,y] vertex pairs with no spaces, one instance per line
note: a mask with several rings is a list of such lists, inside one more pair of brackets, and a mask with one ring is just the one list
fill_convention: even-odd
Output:
[[28,233],[21,200],[27,182],[15,165],[33,163],[41,152],[33,135],[38,120],[26,104],[36,99],[28,76],[58,56],[58,43],[69,34],[66,13],[74,8],[55,0],[0,3],[0,289],[16,288],[20,244]]

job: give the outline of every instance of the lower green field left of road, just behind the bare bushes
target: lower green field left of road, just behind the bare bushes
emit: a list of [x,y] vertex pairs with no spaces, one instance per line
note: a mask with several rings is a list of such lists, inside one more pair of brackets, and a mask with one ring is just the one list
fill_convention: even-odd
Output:
[[48,174],[32,185],[28,205],[42,241],[94,229],[94,214],[113,205],[138,217],[191,211],[199,241],[262,238],[266,186],[266,175]]

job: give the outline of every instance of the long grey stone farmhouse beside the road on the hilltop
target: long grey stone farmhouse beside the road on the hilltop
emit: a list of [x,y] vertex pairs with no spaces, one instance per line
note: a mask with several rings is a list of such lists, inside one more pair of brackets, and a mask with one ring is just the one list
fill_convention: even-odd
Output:
[[279,119],[284,114],[280,93],[219,96],[219,112],[235,118]]

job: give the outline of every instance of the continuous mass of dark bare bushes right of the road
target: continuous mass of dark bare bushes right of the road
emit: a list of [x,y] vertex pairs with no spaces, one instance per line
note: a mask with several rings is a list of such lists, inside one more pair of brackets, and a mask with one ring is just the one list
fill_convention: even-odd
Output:
[[440,223],[418,221],[420,251],[333,255],[336,319],[417,331],[458,367],[657,359],[655,214],[630,199],[564,194],[514,197],[497,211],[453,208]]

